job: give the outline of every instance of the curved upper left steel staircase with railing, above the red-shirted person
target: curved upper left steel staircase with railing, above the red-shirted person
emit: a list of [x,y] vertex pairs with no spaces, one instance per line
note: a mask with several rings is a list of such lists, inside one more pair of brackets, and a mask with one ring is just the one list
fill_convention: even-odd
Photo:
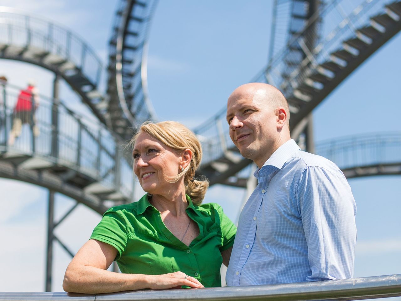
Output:
[[32,63],[51,70],[67,81],[103,123],[107,100],[98,91],[102,64],[77,35],[50,21],[0,7],[0,58]]

